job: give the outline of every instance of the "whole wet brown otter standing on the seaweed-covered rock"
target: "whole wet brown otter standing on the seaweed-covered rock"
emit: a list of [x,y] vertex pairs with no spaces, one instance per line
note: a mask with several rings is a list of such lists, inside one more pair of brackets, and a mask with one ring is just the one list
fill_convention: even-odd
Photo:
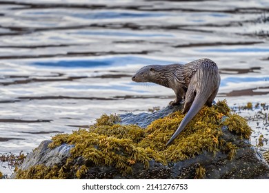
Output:
[[184,100],[182,113],[186,114],[172,135],[169,145],[201,110],[203,105],[212,105],[219,90],[221,77],[217,64],[210,59],[198,59],[185,65],[146,65],[132,77],[135,82],[151,82],[172,88],[176,94],[170,105],[178,105]]

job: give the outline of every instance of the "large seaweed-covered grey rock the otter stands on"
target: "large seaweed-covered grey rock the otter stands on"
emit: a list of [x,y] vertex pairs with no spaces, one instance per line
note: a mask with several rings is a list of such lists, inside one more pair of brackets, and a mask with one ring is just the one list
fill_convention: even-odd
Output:
[[[269,179],[268,163],[250,144],[250,128],[246,123],[241,123],[243,119],[239,116],[230,114],[223,103],[201,110],[197,118],[192,120],[194,122],[190,123],[190,127],[182,132],[182,136],[166,148],[166,141],[177,128],[177,121],[180,122],[183,117],[177,110],[178,108],[168,106],[148,114],[121,114],[121,124],[126,126],[103,125],[97,121],[90,132],[78,130],[70,135],[55,136],[52,141],[43,141],[29,154],[14,177]],[[175,114],[171,115],[172,112]],[[167,117],[159,119],[164,116]],[[220,116],[226,118],[221,119]],[[206,119],[209,122],[201,122]],[[156,121],[152,123],[154,120]],[[210,128],[212,120],[216,120],[216,124]],[[138,124],[145,129],[128,124]],[[203,124],[208,125],[208,128]],[[219,129],[213,130],[220,124]],[[203,130],[192,129],[197,125],[203,125]],[[160,137],[154,138],[157,134]],[[192,134],[191,139],[195,141],[187,139],[182,142],[186,136]],[[211,134],[212,138],[207,138]],[[208,139],[213,142],[207,141]]]

